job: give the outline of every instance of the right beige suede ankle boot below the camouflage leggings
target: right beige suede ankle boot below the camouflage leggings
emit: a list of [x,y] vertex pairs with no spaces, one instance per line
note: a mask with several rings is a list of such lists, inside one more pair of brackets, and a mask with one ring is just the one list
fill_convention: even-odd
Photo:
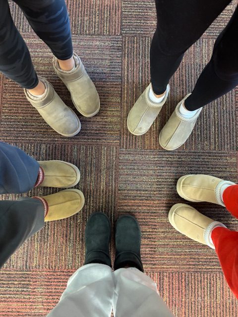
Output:
[[69,90],[75,108],[85,117],[92,117],[100,109],[99,96],[79,56],[74,53],[73,58],[75,68],[70,71],[60,69],[56,57],[53,58],[53,66],[57,75]]

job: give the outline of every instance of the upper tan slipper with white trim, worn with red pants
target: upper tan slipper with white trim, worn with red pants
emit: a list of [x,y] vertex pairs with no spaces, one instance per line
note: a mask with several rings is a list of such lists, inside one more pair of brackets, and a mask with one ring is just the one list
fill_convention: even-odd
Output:
[[225,184],[235,185],[210,175],[184,175],[177,182],[177,192],[189,202],[208,202],[225,207],[221,197],[221,188]]

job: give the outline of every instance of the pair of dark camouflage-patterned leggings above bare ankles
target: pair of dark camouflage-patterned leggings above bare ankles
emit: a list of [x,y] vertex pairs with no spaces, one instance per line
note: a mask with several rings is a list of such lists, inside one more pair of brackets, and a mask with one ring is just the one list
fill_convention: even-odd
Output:
[[[62,60],[73,54],[64,0],[14,0],[35,33]],[[28,48],[15,27],[7,0],[0,0],[0,71],[26,89],[38,84]]]

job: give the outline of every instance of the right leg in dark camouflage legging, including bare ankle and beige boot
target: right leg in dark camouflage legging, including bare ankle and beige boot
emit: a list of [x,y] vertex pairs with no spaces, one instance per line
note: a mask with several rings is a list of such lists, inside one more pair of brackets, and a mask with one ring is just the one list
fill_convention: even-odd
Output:
[[64,0],[14,0],[36,34],[50,47],[57,75],[68,88],[72,102],[86,117],[98,113],[100,100],[83,63],[73,53],[70,23]]

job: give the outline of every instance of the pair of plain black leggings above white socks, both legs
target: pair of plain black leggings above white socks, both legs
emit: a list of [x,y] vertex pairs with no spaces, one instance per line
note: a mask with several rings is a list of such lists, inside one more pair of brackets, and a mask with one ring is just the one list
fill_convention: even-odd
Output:
[[[151,83],[160,95],[184,52],[231,0],[156,0],[157,29],[151,43]],[[185,107],[196,110],[238,85],[238,8],[216,40],[211,60],[202,71]]]

